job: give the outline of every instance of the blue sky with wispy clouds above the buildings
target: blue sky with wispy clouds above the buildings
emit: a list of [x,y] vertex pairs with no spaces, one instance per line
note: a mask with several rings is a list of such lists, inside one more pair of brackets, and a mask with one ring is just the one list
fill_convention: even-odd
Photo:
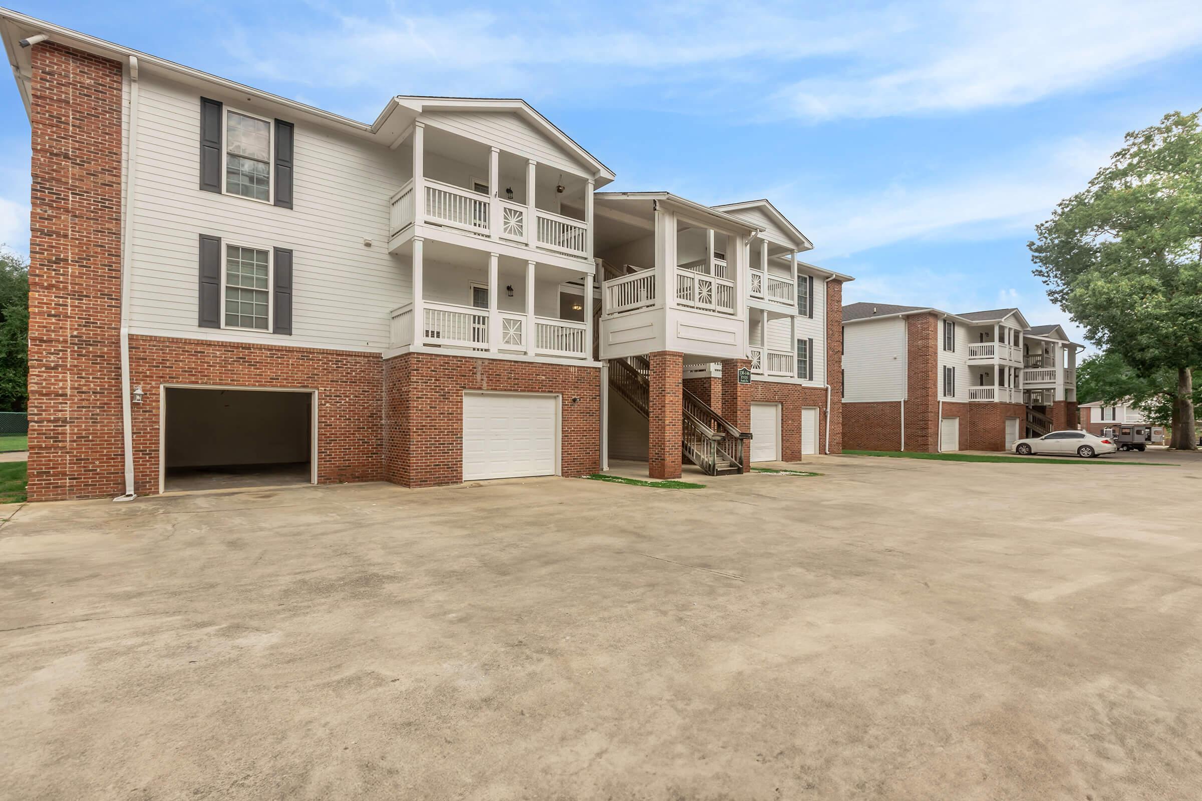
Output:
[[[1202,107],[1202,4],[41,2],[19,11],[370,121],[393,94],[523,97],[618,174],[769,197],[846,300],[1064,322],[1025,244],[1123,133]],[[0,103],[0,241],[29,126]],[[1071,327],[1073,331],[1076,327]]]

